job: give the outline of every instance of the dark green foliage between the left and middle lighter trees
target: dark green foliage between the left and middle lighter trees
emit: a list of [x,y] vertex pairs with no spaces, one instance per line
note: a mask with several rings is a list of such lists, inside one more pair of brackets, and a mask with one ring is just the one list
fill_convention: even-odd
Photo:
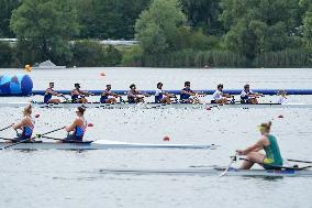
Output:
[[76,0],[80,37],[133,39],[134,24],[151,0]]

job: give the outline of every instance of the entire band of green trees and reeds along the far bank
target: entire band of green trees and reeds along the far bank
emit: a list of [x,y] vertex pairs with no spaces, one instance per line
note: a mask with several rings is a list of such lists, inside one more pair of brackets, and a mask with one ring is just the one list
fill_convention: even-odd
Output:
[[312,0],[2,0],[0,37],[0,67],[312,67]]

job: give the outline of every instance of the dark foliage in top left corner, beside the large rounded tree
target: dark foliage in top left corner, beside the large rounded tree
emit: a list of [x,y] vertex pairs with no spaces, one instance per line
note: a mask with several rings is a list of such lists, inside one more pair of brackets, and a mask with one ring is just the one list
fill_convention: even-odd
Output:
[[21,0],[1,0],[0,1],[0,37],[14,37],[10,30],[10,19],[12,10],[21,4]]

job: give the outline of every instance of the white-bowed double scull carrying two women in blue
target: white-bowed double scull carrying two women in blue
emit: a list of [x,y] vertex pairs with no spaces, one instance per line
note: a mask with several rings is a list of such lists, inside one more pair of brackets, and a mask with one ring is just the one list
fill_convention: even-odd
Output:
[[[0,149],[9,145],[8,142],[0,142]],[[110,140],[97,140],[86,142],[57,143],[37,141],[20,143],[11,146],[13,150],[104,150],[104,149],[215,149],[214,144],[174,144],[174,143],[129,143]]]

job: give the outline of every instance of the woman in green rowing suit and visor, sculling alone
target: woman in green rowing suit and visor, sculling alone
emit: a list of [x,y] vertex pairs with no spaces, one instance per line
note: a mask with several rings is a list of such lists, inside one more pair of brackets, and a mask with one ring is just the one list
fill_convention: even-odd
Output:
[[[258,128],[261,138],[254,145],[236,151],[238,155],[246,155],[241,168],[249,169],[255,163],[263,165],[266,169],[280,168],[282,157],[276,138],[270,134],[271,122],[261,123]],[[266,154],[259,153],[260,150],[265,150]]]

